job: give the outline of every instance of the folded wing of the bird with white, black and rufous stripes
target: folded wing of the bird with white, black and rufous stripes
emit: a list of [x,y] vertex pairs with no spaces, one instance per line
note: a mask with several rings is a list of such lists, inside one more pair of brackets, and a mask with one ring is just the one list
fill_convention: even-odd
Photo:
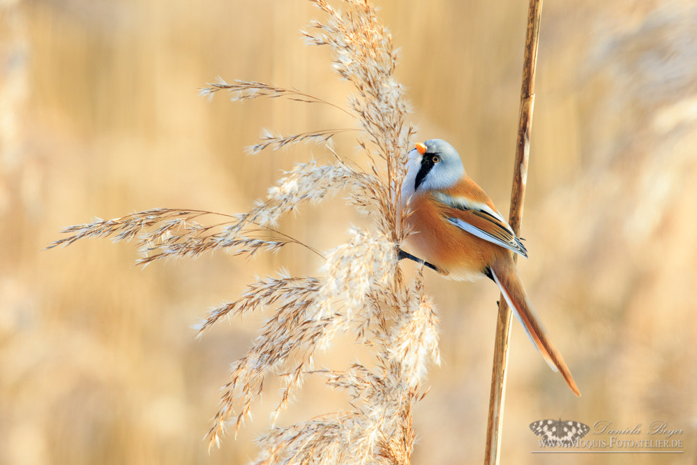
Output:
[[454,226],[527,257],[525,246],[495,208],[473,200],[469,195],[451,195],[437,191],[433,193],[433,197],[440,204],[442,214]]

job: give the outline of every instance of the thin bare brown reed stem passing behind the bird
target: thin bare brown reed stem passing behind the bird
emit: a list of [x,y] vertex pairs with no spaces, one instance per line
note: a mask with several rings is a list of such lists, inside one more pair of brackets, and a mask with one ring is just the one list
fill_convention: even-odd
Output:
[[[534,84],[541,13],[542,0],[530,0],[530,8],[527,14],[525,57],[523,58],[523,85],[520,89],[520,119],[518,120],[516,163],[514,165],[511,210],[509,214],[509,224],[516,232],[516,235],[520,232],[520,224],[523,222],[527,161],[530,157],[532,110],[535,102]],[[516,258],[514,255],[514,260]],[[502,295],[499,299],[499,313],[496,323],[494,362],[489,397],[489,419],[486,427],[486,450],[484,452],[485,465],[496,465],[499,463],[510,334],[511,309],[509,309]]]

